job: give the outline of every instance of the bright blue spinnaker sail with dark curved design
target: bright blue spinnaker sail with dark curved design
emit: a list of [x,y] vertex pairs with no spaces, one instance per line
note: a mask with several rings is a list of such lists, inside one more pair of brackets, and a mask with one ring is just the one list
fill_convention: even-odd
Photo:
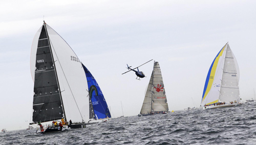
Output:
[[99,88],[96,79],[83,64],[82,67],[84,72],[86,73],[88,89],[93,104],[94,114],[97,115],[98,119],[104,119],[107,117],[111,118],[108,104],[106,104],[105,98]]

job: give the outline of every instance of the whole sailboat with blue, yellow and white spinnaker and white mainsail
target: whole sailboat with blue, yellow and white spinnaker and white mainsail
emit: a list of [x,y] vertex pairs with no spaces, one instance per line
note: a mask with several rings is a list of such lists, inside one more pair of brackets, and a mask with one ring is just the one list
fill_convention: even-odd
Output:
[[204,109],[239,104],[239,68],[228,43],[220,50],[208,71],[201,106]]

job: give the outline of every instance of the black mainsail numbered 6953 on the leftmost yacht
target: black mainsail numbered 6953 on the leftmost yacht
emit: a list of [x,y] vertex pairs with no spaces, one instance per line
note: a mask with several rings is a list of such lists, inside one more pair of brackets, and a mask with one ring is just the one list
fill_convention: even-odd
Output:
[[38,39],[34,81],[33,122],[65,117],[53,55],[45,25]]

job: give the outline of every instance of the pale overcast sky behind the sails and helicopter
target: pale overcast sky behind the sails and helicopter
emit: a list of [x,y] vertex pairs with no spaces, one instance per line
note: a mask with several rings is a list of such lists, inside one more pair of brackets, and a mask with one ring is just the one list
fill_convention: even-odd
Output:
[[[32,122],[30,51],[45,19],[96,78],[112,117],[140,112],[159,62],[169,110],[199,107],[209,67],[229,42],[240,97],[256,89],[256,1],[3,1],[0,5],[0,129]],[[44,16],[44,19],[43,19]]]

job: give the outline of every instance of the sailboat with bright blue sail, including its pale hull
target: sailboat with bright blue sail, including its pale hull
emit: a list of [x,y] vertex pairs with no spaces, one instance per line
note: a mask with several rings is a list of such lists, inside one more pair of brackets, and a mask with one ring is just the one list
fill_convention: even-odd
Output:
[[87,84],[89,88],[90,101],[90,121],[87,124],[101,123],[110,121],[111,114],[106,104],[106,100],[101,92],[96,79],[91,72],[82,64],[83,70],[86,73]]

